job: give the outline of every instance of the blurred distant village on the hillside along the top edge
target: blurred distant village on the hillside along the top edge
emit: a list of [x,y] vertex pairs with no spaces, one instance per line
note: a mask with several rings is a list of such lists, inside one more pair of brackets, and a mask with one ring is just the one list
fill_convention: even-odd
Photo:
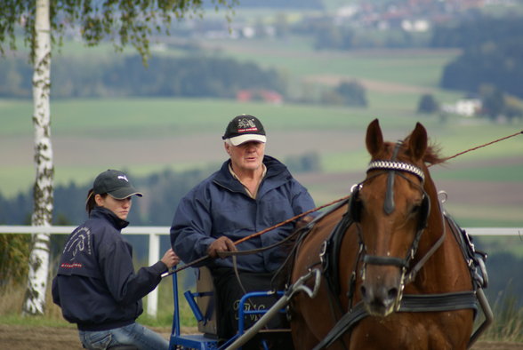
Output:
[[[314,27],[318,21],[326,20],[334,26],[352,28],[376,28],[381,30],[402,29],[406,32],[426,32],[434,25],[469,16],[469,10],[492,4],[510,6],[515,0],[397,0],[386,4],[360,1],[339,8],[333,13],[304,12],[302,16],[280,16],[258,23],[242,22],[236,18],[230,25],[213,21],[187,20],[185,24],[198,36],[213,39],[254,38],[280,36],[282,28],[299,23],[300,28]],[[298,26],[296,26],[298,27]],[[292,30],[292,29],[290,29]]]

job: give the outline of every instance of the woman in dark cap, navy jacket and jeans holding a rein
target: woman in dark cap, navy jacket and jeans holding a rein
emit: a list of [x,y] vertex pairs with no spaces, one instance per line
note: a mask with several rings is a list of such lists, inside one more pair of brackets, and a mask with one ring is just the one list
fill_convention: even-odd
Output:
[[170,249],[156,264],[134,273],[133,248],[121,235],[129,225],[125,219],[133,195],[141,197],[122,171],[98,175],[87,195],[89,219],[69,235],[52,281],[54,303],[68,322],[76,323],[87,349],[169,346],[165,338],[135,320],[143,312],[141,298],[180,259]]

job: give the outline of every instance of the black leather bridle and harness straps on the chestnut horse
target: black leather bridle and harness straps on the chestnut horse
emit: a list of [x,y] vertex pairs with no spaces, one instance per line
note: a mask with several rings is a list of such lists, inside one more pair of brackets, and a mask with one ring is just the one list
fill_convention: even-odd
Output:
[[[518,132],[516,134],[513,134],[509,137],[503,138],[508,139],[510,137],[523,134],[523,131]],[[494,142],[497,142],[501,139],[495,140]],[[492,144],[494,142],[490,142],[489,144]],[[487,144],[487,145],[489,145]],[[487,145],[483,145],[480,147],[485,147]],[[324,338],[321,339],[321,341],[314,347],[313,350],[318,349],[324,349],[328,346],[331,346],[334,344],[335,341],[340,340],[342,341],[342,346],[344,346],[342,336],[352,330],[352,328],[361,320],[369,316],[369,314],[366,311],[366,306],[364,305],[363,300],[359,300],[356,304],[352,303],[352,297],[355,293],[355,286],[356,286],[356,280],[357,280],[357,266],[358,261],[362,260],[364,262],[364,266],[371,265],[371,264],[381,264],[381,265],[392,265],[392,266],[401,266],[402,269],[405,269],[402,285],[401,285],[401,291],[398,293],[398,298],[395,301],[395,311],[399,313],[425,313],[425,312],[453,312],[456,310],[461,309],[472,309],[474,311],[478,310],[478,302],[481,306],[483,313],[485,315],[485,320],[482,322],[481,325],[477,328],[477,330],[474,331],[474,333],[471,335],[471,338],[469,340],[468,348],[471,347],[471,345],[479,338],[479,336],[486,330],[488,325],[493,322],[493,314],[492,310],[490,309],[490,306],[488,305],[487,298],[485,298],[485,294],[483,293],[482,288],[486,287],[486,284],[484,284],[484,280],[481,279],[481,282],[479,282],[479,279],[477,276],[479,275],[477,272],[474,273],[473,268],[474,267],[480,267],[481,268],[481,274],[487,275],[485,268],[484,268],[484,262],[483,259],[481,260],[481,263],[474,262],[471,263],[470,260],[465,258],[465,261],[468,262],[468,266],[471,268],[471,278],[474,282],[473,290],[463,290],[463,291],[450,291],[450,292],[443,292],[443,293],[414,293],[414,294],[403,294],[403,289],[408,282],[412,282],[415,279],[415,276],[417,272],[422,268],[422,266],[430,259],[430,257],[438,251],[439,247],[443,244],[445,241],[446,235],[447,235],[447,223],[450,225],[450,231],[454,235],[456,235],[456,239],[458,244],[460,244],[460,247],[462,249],[464,256],[475,256],[475,252],[470,251],[470,246],[465,247],[463,246],[462,241],[459,239],[459,235],[464,235],[464,231],[455,224],[454,220],[450,219],[450,217],[447,216],[446,212],[441,208],[441,203],[439,200],[434,200],[434,203],[436,203],[439,206],[439,212],[441,214],[441,235],[436,240],[436,242],[432,243],[430,246],[430,249],[424,253],[424,255],[418,259],[414,266],[410,268],[410,271],[406,272],[408,266],[410,263],[412,263],[412,259],[414,259],[415,252],[417,251],[417,245],[420,241],[421,235],[423,230],[426,228],[429,215],[430,215],[430,197],[424,190],[424,172],[422,169],[420,169],[417,166],[414,166],[410,163],[404,163],[404,162],[398,162],[396,161],[396,156],[398,155],[398,148],[400,147],[400,144],[396,145],[396,149],[394,151],[394,155],[392,159],[390,160],[376,160],[371,162],[368,165],[367,173],[368,171],[374,171],[378,170],[379,172],[372,174],[370,176],[367,175],[367,179],[364,181],[358,183],[357,185],[353,186],[351,188],[351,195],[349,199],[349,210],[343,215],[342,219],[334,227],[333,231],[331,232],[331,235],[327,238],[326,242],[324,243],[324,248],[322,250],[322,255],[320,256],[322,260],[322,265],[324,266],[324,274],[327,283],[327,287],[330,290],[330,293],[333,295],[334,300],[337,300],[338,303],[340,303],[340,299],[338,296],[338,291],[336,288],[339,284],[337,278],[338,278],[338,270],[336,270],[335,266],[337,266],[337,259],[340,256],[339,254],[339,246],[341,245],[342,237],[343,235],[348,231],[350,225],[356,224],[357,225],[357,231],[358,231],[358,239],[360,241],[359,243],[359,252],[357,254],[357,259],[355,261],[354,270],[350,274],[349,278],[349,291],[347,292],[347,297],[349,298],[349,309],[342,312],[342,316],[337,319],[334,326],[329,330],[329,332],[326,334]],[[471,148],[468,151],[462,152],[458,155],[462,155],[463,153],[469,152],[473,149],[477,149],[479,147]],[[452,157],[448,157],[447,159],[454,158],[456,155]],[[429,165],[430,166],[430,165]],[[405,176],[404,173],[410,173],[414,174],[419,180],[420,183],[416,183],[413,180],[409,179]],[[371,256],[371,255],[363,255],[366,253],[366,246],[365,243],[362,240],[362,234],[361,234],[361,227],[360,227],[360,221],[361,221],[361,211],[362,211],[362,204],[358,198],[359,191],[364,186],[366,181],[369,179],[373,179],[376,176],[380,176],[382,174],[387,174],[387,193],[386,193],[386,201],[383,206],[383,210],[390,210],[390,208],[393,207],[390,206],[390,203],[393,203],[393,181],[396,175],[402,177],[403,179],[406,179],[411,184],[417,186],[422,191],[423,197],[422,197],[422,208],[420,212],[420,217],[418,221],[418,225],[416,227],[416,238],[414,239],[414,242],[412,243],[411,249],[409,250],[407,256],[405,259],[399,259],[399,258],[392,258],[389,257],[379,257],[379,256]],[[388,200],[387,200],[388,198]],[[392,201],[390,201],[392,199]],[[388,209],[387,209],[388,208]],[[467,255],[471,254],[471,255]],[[474,260],[476,261],[476,260]],[[329,277],[330,276],[330,277]],[[331,300],[333,298],[330,298]]]

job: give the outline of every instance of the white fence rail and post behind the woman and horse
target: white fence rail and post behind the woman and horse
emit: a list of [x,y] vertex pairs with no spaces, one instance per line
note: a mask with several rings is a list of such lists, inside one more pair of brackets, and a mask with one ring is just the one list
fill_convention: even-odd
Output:
[[[0,226],[0,234],[33,234],[44,233],[52,235],[68,235],[76,227],[74,226]],[[463,227],[469,235],[523,235],[523,227]],[[169,235],[170,227],[125,227],[124,235],[149,235],[149,266],[160,259],[160,235]],[[155,317],[157,315],[158,293],[157,289],[148,295],[147,314]]]

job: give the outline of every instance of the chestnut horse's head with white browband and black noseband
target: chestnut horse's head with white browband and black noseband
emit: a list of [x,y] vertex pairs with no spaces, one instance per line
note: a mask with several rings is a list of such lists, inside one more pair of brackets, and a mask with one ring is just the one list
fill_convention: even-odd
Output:
[[361,298],[369,314],[397,310],[426,226],[430,199],[424,189],[427,132],[421,123],[398,143],[384,142],[376,120],[366,131],[371,163],[353,189],[350,211],[363,250]]

